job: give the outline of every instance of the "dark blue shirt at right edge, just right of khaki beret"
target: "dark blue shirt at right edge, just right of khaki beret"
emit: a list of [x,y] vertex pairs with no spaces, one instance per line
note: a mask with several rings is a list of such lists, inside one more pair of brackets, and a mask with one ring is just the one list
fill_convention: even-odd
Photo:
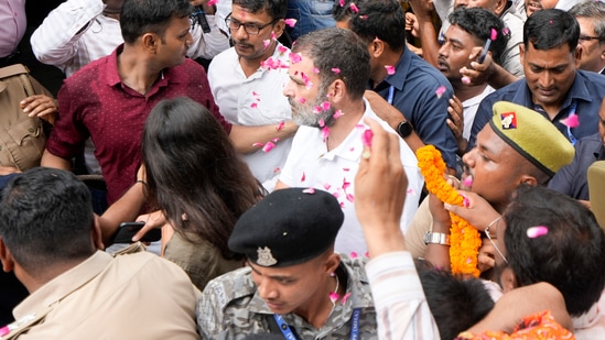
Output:
[[605,160],[605,147],[601,134],[595,133],[577,141],[573,162],[560,168],[548,187],[575,199],[588,200],[588,167],[602,160]]

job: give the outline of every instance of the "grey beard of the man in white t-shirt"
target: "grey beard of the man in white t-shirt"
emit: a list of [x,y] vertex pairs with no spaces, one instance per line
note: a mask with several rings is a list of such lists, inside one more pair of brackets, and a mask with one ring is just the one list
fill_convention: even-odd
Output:
[[[313,103],[301,103],[296,98],[288,98],[292,107],[292,121],[298,125],[323,128],[332,127],[336,122],[334,113],[336,109],[329,106],[323,110],[322,103],[329,102],[326,97],[327,89],[320,89],[317,99]],[[318,112],[317,112],[318,111]]]

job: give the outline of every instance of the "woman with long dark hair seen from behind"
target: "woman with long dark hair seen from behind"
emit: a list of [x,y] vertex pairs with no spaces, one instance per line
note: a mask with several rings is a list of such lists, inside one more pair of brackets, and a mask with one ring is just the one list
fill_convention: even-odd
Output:
[[149,202],[175,231],[164,257],[182,266],[199,289],[241,266],[227,240],[262,193],[209,111],[188,98],[159,102],[144,125],[142,163]]

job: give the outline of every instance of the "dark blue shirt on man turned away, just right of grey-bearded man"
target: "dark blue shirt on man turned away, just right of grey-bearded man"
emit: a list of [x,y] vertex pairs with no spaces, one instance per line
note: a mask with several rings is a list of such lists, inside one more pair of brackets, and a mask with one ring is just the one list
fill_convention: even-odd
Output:
[[[396,73],[387,76],[374,90],[388,100],[389,88],[392,86],[395,91],[391,105],[406,116],[424,144],[434,145],[445,164],[456,168],[458,146],[445,122],[449,117],[447,100],[454,95],[450,81],[408,47],[404,47],[395,68]],[[439,98],[435,91],[441,86],[445,86],[445,92]]]

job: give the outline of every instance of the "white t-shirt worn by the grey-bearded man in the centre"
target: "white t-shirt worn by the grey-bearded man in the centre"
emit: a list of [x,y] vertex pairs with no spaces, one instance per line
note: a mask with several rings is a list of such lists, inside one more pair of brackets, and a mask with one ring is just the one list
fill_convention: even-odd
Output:
[[[364,118],[372,118],[383,129],[395,133],[385,121],[374,113],[367,100],[364,99],[364,103],[366,105]],[[342,253],[356,252],[363,255],[367,251],[367,246],[354,206],[355,175],[364,149],[361,135],[368,129],[363,118],[358,123],[358,127],[360,125],[363,128],[354,128],[343,143],[329,152],[322,138],[321,129],[301,127],[294,135],[292,150],[283,166],[280,180],[290,187],[313,187],[336,196],[345,213],[345,220],[336,237],[335,250]],[[401,163],[408,176],[408,196],[401,217],[401,230],[406,232],[408,223],[418,209],[424,178],[418,168],[414,153],[402,139],[399,139],[399,147]],[[309,213],[313,213],[313,211]]]

